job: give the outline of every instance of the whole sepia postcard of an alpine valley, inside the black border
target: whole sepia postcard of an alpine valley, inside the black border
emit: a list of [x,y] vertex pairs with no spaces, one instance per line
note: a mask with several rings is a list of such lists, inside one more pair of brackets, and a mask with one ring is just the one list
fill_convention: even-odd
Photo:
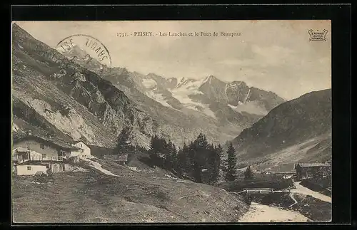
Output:
[[331,21],[13,21],[11,217],[331,222]]

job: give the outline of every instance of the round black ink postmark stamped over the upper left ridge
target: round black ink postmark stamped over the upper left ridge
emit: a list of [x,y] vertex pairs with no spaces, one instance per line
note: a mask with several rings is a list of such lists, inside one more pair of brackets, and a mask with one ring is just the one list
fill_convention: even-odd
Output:
[[74,34],[59,41],[56,50],[71,62],[95,73],[111,71],[111,56],[98,39],[86,34]]

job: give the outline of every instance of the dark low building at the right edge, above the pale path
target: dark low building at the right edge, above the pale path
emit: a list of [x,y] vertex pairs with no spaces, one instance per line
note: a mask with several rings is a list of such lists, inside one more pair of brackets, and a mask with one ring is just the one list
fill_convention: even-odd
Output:
[[328,163],[298,163],[295,164],[296,177],[298,180],[307,178],[322,178],[331,172]]

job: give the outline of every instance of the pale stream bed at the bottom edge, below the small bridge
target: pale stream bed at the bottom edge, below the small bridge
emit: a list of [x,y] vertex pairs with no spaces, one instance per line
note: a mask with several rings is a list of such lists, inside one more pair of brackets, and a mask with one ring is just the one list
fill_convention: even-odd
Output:
[[297,211],[269,207],[268,205],[251,203],[248,212],[238,222],[307,222],[308,218]]

